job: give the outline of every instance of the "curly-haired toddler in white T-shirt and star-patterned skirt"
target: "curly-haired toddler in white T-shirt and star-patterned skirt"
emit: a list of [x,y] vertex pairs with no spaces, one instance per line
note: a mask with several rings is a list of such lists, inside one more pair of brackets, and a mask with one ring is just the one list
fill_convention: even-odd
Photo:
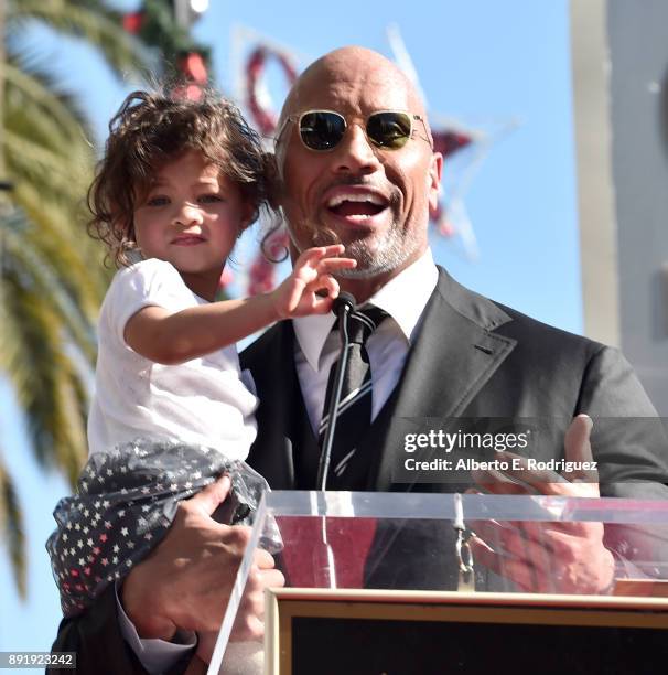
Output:
[[[223,472],[226,518],[266,483],[244,462],[257,399],[235,343],[326,313],[343,246],[311,248],[272,292],[215,301],[235,242],[268,202],[269,156],[230,103],[136,92],[109,125],[90,228],[121,269],[99,318],[89,461],[47,548],[65,615],[84,611],[164,536],[177,502]],[[211,636],[209,636],[211,649]]]

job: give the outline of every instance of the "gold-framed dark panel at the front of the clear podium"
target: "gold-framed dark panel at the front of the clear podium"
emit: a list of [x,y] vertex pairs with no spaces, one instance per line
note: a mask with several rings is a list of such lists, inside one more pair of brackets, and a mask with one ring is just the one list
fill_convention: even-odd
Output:
[[266,622],[269,675],[668,668],[661,598],[292,588],[267,591]]

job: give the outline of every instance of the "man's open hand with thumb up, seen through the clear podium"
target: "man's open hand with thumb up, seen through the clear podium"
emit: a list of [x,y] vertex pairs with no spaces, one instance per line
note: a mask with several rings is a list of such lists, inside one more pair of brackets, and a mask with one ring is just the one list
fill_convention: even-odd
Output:
[[[591,462],[590,433],[592,420],[586,415],[575,417],[565,439],[565,459]],[[518,456],[499,453],[511,467]],[[522,469],[476,471],[474,480],[493,494],[546,494],[575,497],[597,497],[597,476],[591,472],[559,475],[551,471],[531,471],[524,458]],[[510,480],[521,481],[517,483]],[[584,480],[589,482],[584,482]],[[472,490],[470,492],[477,492]],[[602,523],[499,523],[476,522],[476,536],[471,547],[476,562],[509,578],[527,592],[599,593],[607,589],[614,577],[613,555],[603,545]]]

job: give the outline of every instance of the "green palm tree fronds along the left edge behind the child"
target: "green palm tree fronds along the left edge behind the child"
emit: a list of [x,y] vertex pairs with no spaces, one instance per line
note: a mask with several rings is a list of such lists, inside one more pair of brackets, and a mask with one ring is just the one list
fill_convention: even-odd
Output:
[[[0,372],[26,415],[37,462],[61,468],[74,484],[87,454],[93,318],[108,281],[98,244],[78,229],[94,162],[93,133],[51,64],[22,51],[21,41],[35,23],[85,40],[116,75],[141,75],[152,56],[103,0],[0,2],[6,18],[0,167],[9,171],[11,201],[21,207],[8,214],[3,200],[0,212]],[[0,458],[0,525],[24,594],[20,515]]]

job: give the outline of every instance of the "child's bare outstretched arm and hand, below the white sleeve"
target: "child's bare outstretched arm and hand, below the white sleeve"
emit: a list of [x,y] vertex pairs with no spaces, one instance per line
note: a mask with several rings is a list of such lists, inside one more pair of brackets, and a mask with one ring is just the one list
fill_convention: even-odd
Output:
[[[352,258],[334,257],[343,251],[341,245],[305,250],[292,274],[270,293],[180,312],[144,307],[126,323],[126,342],[155,363],[175,365],[211,354],[279,319],[325,314],[338,294],[332,272],[356,265]],[[327,297],[316,294],[320,290],[326,290]]]

